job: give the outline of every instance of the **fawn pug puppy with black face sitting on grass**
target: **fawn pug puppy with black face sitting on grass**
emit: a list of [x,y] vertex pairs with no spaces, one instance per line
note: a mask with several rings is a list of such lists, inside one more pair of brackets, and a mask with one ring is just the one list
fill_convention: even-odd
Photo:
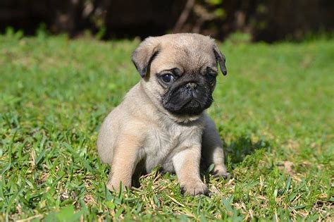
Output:
[[175,172],[181,192],[207,194],[199,166],[227,177],[223,144],[206,115],[219,63],[225,56],[214,39],[198,34],[148,37],[132,54],[142,79],[105,118],[97,140],[101,161],[111,165],[110,190],[130,187],[132,175],[161,166]]

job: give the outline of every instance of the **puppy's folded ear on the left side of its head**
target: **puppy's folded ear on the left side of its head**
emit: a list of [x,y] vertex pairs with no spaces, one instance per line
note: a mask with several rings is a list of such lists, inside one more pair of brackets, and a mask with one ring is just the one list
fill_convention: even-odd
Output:
[[140,76],[144,78],[149,72],[149,66],[159,53],[160,45],[156,37],[148,37],[132,53],[132,62],[135,64]]

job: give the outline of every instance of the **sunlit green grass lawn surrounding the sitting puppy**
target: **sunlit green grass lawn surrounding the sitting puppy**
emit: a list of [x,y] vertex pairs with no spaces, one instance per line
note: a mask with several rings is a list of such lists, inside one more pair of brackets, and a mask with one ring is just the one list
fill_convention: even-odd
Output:
[[333,219],[334,40],[220,45],[208,112],[235,178],[204,172],[209,197],[158,171],[106,190],[97,132],[140,79],[137,44],[0,36],[0,221]]

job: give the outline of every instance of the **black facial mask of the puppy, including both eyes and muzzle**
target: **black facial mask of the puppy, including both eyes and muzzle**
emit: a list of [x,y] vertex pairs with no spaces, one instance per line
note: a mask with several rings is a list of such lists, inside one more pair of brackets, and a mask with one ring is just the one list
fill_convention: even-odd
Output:
[[202,113],[214,101],[212,92],[216,76],[217,70],[210,66],[197,67],[191,71],[175,67],[156,73],[156,81],[163,88],[160,95],[163,107],[181,115]]

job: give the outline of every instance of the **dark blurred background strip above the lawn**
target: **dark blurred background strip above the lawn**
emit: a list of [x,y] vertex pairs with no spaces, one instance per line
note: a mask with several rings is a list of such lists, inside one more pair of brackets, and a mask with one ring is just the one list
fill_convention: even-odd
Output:
[[0,32],[34,35],[44,24],[54,34],[101,39],[198,32],[223,40],[233,32],[252,41],[301,40],[333,33],[333,0],[0,0]]

